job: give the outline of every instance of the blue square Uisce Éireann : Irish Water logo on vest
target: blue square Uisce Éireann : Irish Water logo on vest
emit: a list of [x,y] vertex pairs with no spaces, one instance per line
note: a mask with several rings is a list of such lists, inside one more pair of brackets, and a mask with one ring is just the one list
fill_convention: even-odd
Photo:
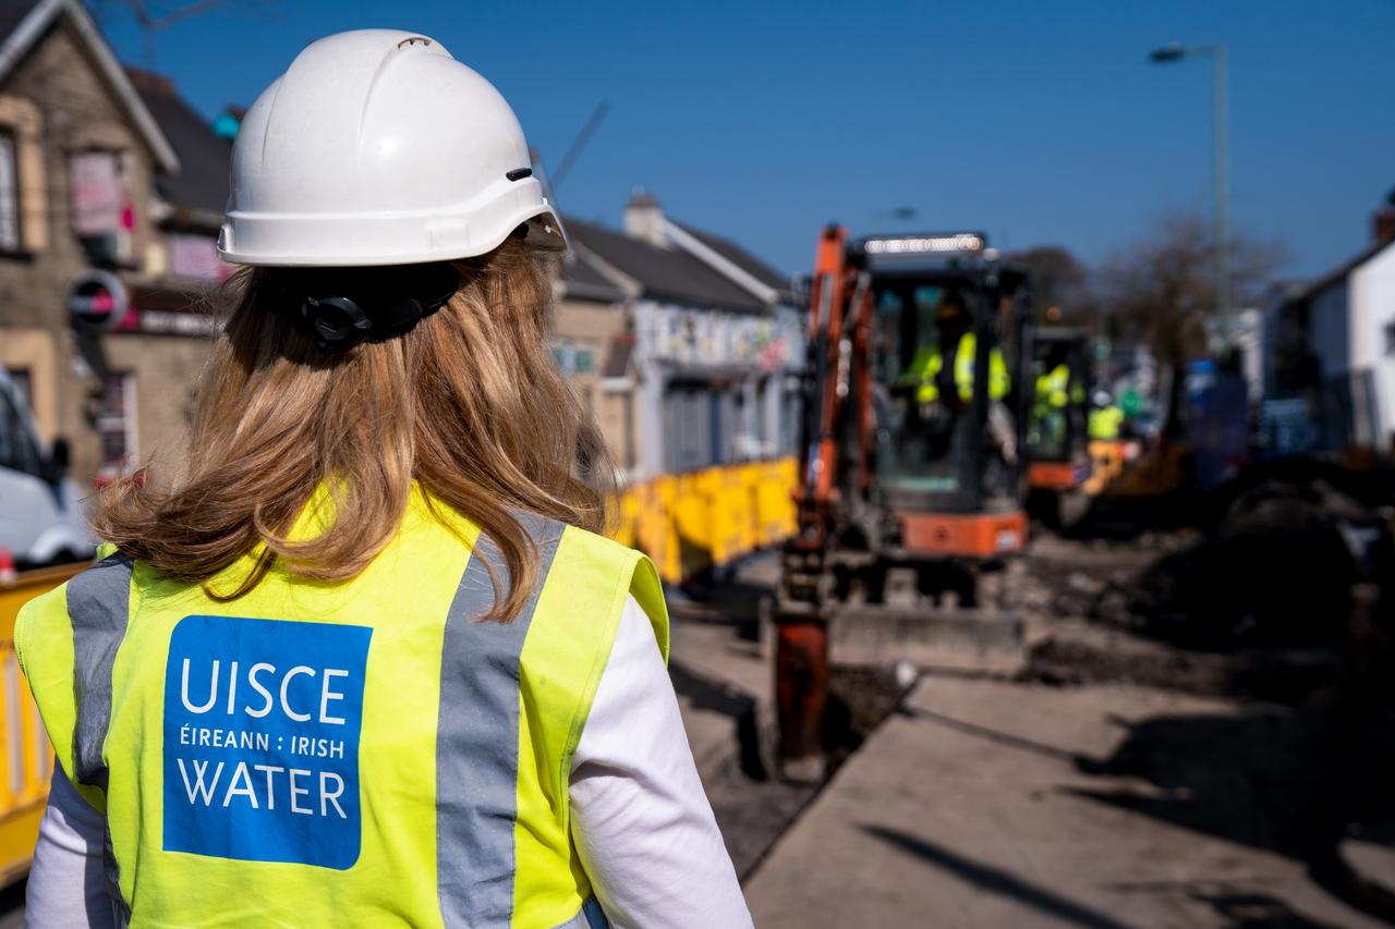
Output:
[[359,861],[368,626],[184,617],[165,665],[165,851]]

